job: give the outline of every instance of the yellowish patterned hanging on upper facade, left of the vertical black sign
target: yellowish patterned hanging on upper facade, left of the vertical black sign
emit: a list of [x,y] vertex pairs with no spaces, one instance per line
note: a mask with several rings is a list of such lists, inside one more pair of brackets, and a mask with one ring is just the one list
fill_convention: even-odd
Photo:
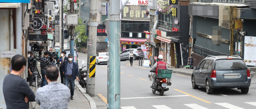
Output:
[[[178,0],[176,0],[178,2]],[[172,5],[169,5],[169,0],[158,0],[157,9],[164,15],[170,14]]]

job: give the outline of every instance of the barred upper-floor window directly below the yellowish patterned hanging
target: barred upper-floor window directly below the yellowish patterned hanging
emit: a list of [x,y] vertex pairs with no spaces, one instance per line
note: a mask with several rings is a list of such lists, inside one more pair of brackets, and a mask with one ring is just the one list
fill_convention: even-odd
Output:
[[159,13],[158,15],[158,28],[172,31],[172,14],[164,15]]

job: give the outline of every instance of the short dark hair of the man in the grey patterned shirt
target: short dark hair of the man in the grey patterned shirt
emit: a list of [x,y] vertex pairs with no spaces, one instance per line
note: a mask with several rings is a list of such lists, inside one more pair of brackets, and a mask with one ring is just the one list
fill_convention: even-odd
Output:
[[47,65],[44,68],[44,74],[50,81],[56,81],[59,76],[59,69],[54,65]]

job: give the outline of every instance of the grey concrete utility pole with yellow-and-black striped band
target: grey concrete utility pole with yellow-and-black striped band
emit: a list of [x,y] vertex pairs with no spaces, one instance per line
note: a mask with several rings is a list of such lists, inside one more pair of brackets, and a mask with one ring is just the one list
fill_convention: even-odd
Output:
[[[90,56],[96,56],[96,37],[97,37],[97,0],[90,1],[90,16],[89,16],[89,36],[88,36],[88,48],[87,48],[87,82],[86,93],[91,97],[95,96],[95,77],[89,77],[90,73]],[[96,72],[96,71],[95,71]]]

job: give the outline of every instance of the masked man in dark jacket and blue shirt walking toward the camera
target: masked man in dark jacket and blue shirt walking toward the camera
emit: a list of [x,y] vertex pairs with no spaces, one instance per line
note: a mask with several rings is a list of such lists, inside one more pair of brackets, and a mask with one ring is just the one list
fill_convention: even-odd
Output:
[[62,73],[64,74],[64,84],[68,86],[68,83],[70,83],[70,93],[71,97],[70,99],[74,99],[74,90],[75,90],[75,79],[78,81],[78,67],[77,64],[72,61],[74,59],[73,54],[68,54],[68,61],[63,61],[62,66]]

